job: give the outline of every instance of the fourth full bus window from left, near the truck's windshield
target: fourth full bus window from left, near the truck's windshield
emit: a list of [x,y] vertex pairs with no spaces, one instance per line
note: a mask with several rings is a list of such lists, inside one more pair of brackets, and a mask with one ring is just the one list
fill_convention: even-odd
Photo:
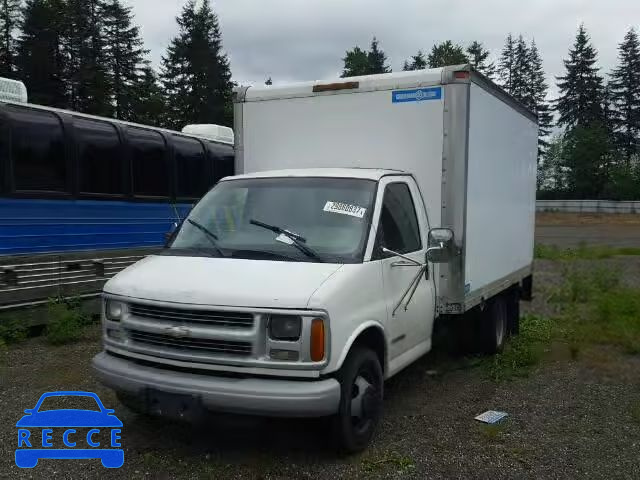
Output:
[[207,168],[204,147],[199,140],[173,136],[176,157],[176,196],[200,198],[213,186],[211,170]]

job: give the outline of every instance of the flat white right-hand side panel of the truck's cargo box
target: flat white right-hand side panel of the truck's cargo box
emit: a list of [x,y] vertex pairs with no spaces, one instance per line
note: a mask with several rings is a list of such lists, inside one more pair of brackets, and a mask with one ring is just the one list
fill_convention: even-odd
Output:
[[465,229],[466,301],[488,298],[533,263],[538,126],[471,84]]

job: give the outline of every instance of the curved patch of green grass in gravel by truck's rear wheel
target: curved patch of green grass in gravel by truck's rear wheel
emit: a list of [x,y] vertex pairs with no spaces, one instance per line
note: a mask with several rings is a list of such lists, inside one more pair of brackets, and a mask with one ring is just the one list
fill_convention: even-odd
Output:
[[551,343],[553,321],[539,315],[520,319],[520,335],[507,343],[502,353],[487,360],[490,377],[499,382],[526,376],[542,359]]

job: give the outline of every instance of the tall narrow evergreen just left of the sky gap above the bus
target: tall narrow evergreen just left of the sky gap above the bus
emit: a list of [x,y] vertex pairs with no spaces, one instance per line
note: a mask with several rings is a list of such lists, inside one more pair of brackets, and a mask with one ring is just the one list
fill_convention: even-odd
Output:
[[133,24],[132,8],[121,0],[107,0],[103,10],[104,60],[115,118],[132,120],[138,83],[144,82],[144,50],[140,28]]

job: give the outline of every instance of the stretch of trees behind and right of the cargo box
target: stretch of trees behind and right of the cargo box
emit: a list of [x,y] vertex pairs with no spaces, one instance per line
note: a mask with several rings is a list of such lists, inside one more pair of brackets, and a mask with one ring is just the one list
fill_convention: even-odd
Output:
[[[368,50],[356,46],[342,60],[343,77],[391,72],[376,37]],[[447,40],[418,50],[403,70],[467,63],[538,116],[539,198],[640,200],[640,40],[633,28],[618,46],[617,65],[603,75],[581,25],[553,100],[535,40],[522,35],[509,34],[495,61],[479,41],[465,47]]]

